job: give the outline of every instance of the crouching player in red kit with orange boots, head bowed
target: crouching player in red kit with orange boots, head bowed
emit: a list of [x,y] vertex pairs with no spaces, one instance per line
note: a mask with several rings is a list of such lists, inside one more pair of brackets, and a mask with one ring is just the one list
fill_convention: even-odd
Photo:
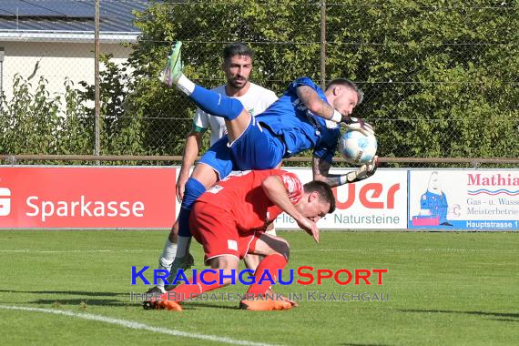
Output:
[[216,271],[205,272],[203,280],[200,274],[190,278],[189,284],[169,290],[145,308],[182,310],[179,301],[229,285],[230,276],[238,275],[239,260],[253,253],[264,256],[254,273],[256,283],[247,292],[257,299],[242,300],[240,308],[289,310],[289,301],[267,298],[269,280],[260,282],[265,271],[277,280],[290,252],[287,240],[265,234],[265,229],[284,211],[319,242],[316,222],[334,209],[329,185],[310,181],[303,186],[295,174],[280,169],[239,172],[219,181],[197,199],[189,218],[193,236],[204,247],[206,264]]

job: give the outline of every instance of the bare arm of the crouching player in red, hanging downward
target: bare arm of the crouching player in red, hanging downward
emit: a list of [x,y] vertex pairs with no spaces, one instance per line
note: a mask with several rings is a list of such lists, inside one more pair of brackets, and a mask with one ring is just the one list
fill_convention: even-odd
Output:
[[289,214],[296,220],[301,229],[306,231],[316,242],[319,242],[319,229],[315,222],[305,218],[298,209],[294,207],[290,201],[287,188],[278,176],[269,176],[263,180],[261,184],[267,197],[280,207],[281,210]]

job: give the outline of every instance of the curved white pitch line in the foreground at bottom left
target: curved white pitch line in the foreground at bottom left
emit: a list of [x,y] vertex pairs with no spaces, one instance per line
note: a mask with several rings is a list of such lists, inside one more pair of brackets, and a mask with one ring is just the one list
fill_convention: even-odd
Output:
[[119,320],[119,319],[114,319],[114,318],[107,317],[107,316],[94,315],[91,313],[76,313],[76,312],[72,312],[69,310],[50,310],[50,309],[39,309],[39,308],[28,308],[28,307],[22,307],[22,306],[6,306],[6,305],[0,305],[0,309],[53,313],[55,315],[76,317],[78,319],[83,319],[83,320],[88,320],[88,321],[99,321],[99,322],[105,322],[105,323],[110,323],[110,324],[117,324],[121,327],[130,328],[133,330],[152,331],[152,332],[158,332],[161,334],[181,336],[181,337],[185,337],[185,338],[200,339],[200,340],[206,340],[206,341],[225,342],[225,343],[229,343],[229,344],[233,344],[233,345],[270,346],[270,344],[268,344],[268,343],[235,340],[235,339],[221,337],[221,336],[217,336],[217,335],[197,334],[197,333],[190,333],[187,331],[176,331],[176,330],[163,328],[163,327],[153,327],[153,326],[149,326],[148,324],[139,323],[139,322],[135,322],[135,321]]

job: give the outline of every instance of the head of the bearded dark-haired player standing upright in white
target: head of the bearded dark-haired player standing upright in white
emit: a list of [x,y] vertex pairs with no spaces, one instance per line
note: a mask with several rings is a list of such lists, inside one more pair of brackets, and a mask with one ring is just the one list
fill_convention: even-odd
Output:
[[249,46],[242,43],[231,43],[223,49],[221,68],[227,77],[227,86],[231,88],[228,92],[231,94],[239,93],[239,90],[249,86],[253,57],[254,54]]

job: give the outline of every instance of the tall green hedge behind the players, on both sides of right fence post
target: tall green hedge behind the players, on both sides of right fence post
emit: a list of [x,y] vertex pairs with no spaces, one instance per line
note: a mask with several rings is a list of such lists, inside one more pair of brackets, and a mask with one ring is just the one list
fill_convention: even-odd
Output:
[[[510,148],[519,139],[514,5],[345,0],[326,10],[326,79],[346,76],[366,92],[356,115],[376,126],[382,156],[519,155]],[[156,105],[148,100],[165,97],[175,105],[171,113],[182,117],[192,106],[157,87],[154,78],[176,40],[185,43],[188,76],[204,86],[223,82],[217,53],[233,41],[252,46],[253,80],[278,93],[297,76],[321,77],[317,3],[157,4],[137,25],[143,36],[131,61],[137,76],[148,77],[142,90],[152,90],[137,104]],[[152,107],[151,113],[160,110]]]

